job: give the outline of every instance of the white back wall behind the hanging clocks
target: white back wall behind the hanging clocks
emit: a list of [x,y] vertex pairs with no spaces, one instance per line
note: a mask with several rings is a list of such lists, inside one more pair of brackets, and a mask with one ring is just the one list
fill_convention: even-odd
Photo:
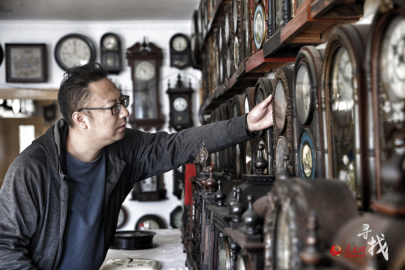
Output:
[[[80,33],[88,36],[96,46],[97,58],[100,60],[100,38],[106,32],[114,32],[121,38],[123,48],[123,66],[124,70],[118,75],[111,75],[112,81],[123,91],[124,95],[132,95],[131,68],[125,57],[127,48],[135,43],[143,42],[143,36],[146,36],[147,42],[152,42],[163,49],[163,66],[160,70],[160,104],[161,112],[165,115],[164,131],[168,130],[169,117],[169,97],[166,94],[168,79],[171,86],[175,86],[177,75],[182,74],[183,83],[188,84],[191,80],[191,86],[194,89],[193,95],[193,117],[194,125],[200,125],[198,122],[197,111],[199,107],[199,80],[201,72],[193,68],[186,68],[180,71],[177,68],[170,67],[169,41],[176,33],[190,35],[191,17],[186,21],[2,21],[0,20],[0,44],[5,50],[6,43],[46,43],[48,50],[48,83],[37,84],[17,84],[6,83],[6,65],[5,61],[0,65],[0,99],[1,88],[59,88],[63,78],[63,69],[59,67],[54,58],[54,48],[59,39],[69,33]],[[131,112],[131,110],[130,110]],[[153,131],[152,131],[153,132]],[[173,130],[171,132],[174,132]],[[173,191],[173,173],[168,172],[164,175],[168,200],[160,202],[137,202],[130,201],[127,198],[124,206],[131,209],[131,214],[127,225],[123,229],[134,229],[137,219],[145,214],[157,214],[164,218],[167,224],[170,223],[170,212],[181,204],[181,201],[174,197]],[[131,195],[130,195],[131,196]],[[130,197],[129,196],[129,197]]]

